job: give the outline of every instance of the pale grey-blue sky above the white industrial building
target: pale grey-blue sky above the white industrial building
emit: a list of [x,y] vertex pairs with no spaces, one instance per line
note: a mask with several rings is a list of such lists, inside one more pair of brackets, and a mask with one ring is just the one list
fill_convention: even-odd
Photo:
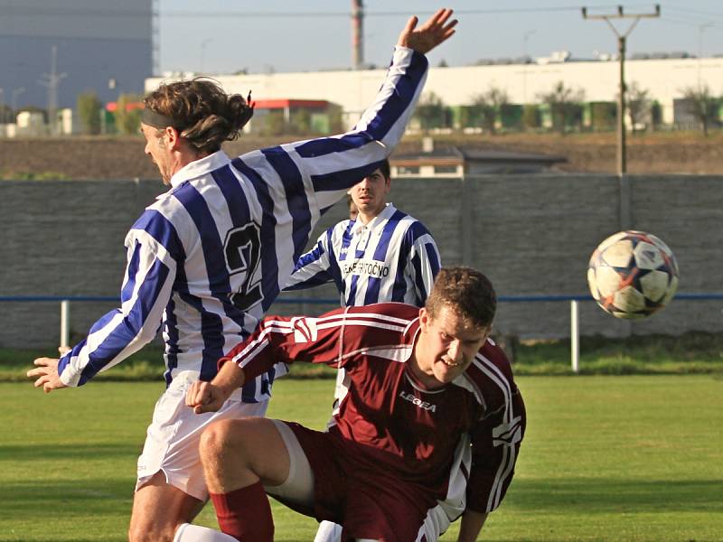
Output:
[[[351,0],[160,0],[159,64],[162,71],[251,73],[344,70],[352,66]],[[503,7],[502,7],[503,5]],[[549,56],[569,51],[593,59],[617,51],[613,29],[589,14],[616,14],[614,3],[579,0],[456,0],[448,6],[458,31],[429,55],[465,66],[484,59]],[[624,14],[653,14],[655,4],[622,2]],[[421,20],[438,1],[364,0],[364,61],[388,64],[399,31],[410,14]],[[723,3],[719,0],[661,2],[659,18],[643,18],[627,38],[628,54],[686,51],[723,54]],[[626,33],[634,19],[611,21]]]

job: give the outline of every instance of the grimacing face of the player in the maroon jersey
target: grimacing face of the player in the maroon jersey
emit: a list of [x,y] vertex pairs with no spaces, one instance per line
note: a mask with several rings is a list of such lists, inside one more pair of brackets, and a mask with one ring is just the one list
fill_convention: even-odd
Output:
[[440,385],[451,382],[470,366],[491,331],[490,327],[465,322],[448,306],[443,306],[434,318],[421,309],[419,324],[420,348],[415,349],[418,368]]

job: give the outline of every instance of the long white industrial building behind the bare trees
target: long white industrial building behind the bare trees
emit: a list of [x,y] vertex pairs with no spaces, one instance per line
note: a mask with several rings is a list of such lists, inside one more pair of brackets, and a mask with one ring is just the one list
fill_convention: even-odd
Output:
[[[624,69],[628,86],[636,83],[660,103],[665,124],[681,121],[675,117],[675,102],[683,98],[684,89],[707,85],[713,96],[723,95],[723,58],[634,59],[625,61]],[[587,102],[610,102],[617,99],[619,70],[619,62],[615,59],[572,61],[567,54],[553,54],[530,63],[432,68],[425,92],[434,92],[447,106],[462,106],[471,104],[474,95],[496,87],[505,90],[512,103],[529,104],[540,103],[540,94],[548,94],[554,85],[563,81],[568,88],[583,90]],[[147,79],[146,91],[155,89],[162,80],[192,75]],[[251,89],[254,98],[258,99],[333,102],[342,107],[350,125],[370,104],[383,77],[382,70],[214,76],[224,89],[244,96]]]

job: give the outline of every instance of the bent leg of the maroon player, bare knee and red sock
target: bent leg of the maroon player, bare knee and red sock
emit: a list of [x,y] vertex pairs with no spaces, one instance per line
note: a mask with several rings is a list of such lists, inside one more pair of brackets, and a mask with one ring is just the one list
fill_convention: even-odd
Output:
[[204,432],[200,450],[224,533],[243,540],[273,540],[274,523],[265,486],[284,499],[306,507],[313,504],[311,468],[296,437],[281,422],[266,418],[224,420]]

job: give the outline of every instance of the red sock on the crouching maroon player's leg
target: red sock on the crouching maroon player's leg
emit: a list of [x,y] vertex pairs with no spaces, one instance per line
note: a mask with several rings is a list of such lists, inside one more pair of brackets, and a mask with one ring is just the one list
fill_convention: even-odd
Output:
[[274,519],[260,481],[228,493],[211,493],[221,530],[243,542],[273,542]]

